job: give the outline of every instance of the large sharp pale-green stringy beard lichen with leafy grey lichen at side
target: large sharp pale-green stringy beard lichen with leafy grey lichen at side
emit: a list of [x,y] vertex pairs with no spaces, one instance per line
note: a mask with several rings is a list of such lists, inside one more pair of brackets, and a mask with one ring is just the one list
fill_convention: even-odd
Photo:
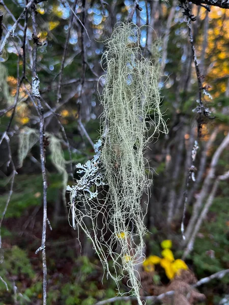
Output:
[[[160,111],[157,75],[153,64],[142,57],[138,41],[139,28],[121,23],[105,42],[102,143],[94,156],[96,162],[86,164],[84,176],[89,177],[92,168],[95,172],[87,185],[83,176],[75,187],[68,189],[74,227],[81,227],[92,240],[104,268],[118,288],[119,280],[126,277],[127,285],[141,304],[137,265],[144,256],[147,232],[144,217],[148,202],[142,203],[145,205],[142,207],[140,201],[151,184],[146,175],[144,152],[149,139],[158,136],[159,127],[162,125],[163,132],[167,129]],[[103,177],[99,184],[95,183],[97,171]],[[101,199],[97,196],[95,200],[91,192],[97,195],[95,189],[103,184],[107,185],[106,195],[102,196],[101,192]],[[90,188],[93,191],[89,192]],[[89,226],[85,223],[88,219]],[[108,259],[112,260],[111,268]]]

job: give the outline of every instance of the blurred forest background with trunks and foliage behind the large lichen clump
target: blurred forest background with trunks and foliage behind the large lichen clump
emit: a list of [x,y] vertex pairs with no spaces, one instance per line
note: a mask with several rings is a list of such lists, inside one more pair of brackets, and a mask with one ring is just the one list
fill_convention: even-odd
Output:
[[[47,304],[137,304],[117,296],[72,228],[66,192],[76,164],[93,158],[103,42],[125,21],[140,27],[143,56],[160,58],[168,127],[145,153],[140,294],[147,304],[229,304],[229,5],[215,0],[0,0],[0,304],[42,304],[44,261]],[[167,291],[174,300],[156,298]]]

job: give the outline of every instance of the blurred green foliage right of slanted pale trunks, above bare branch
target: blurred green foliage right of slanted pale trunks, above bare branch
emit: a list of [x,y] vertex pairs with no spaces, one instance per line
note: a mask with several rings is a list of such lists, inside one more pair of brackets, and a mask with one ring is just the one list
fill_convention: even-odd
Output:
[[[222,190],[227,193],[228,185],[224,182],[222,181],[221,184],[224,186]],[[225,269],[229,261],[228,199],[228,197],[215,198],[209,211],[208,220],[201,228],[201,233],[204,235],[195,240],[192,257],[195,273],[199,278],[205,277],[206,272],[210,275]],[[212,256],[210,255],[211,251]]]

